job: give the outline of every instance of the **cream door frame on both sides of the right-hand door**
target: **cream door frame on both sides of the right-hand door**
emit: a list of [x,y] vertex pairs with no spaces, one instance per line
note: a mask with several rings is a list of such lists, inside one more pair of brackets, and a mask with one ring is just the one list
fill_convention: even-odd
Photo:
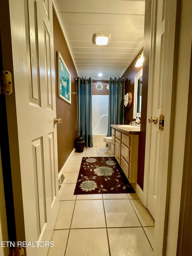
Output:
[[[154,13],[155,2],[152,0],[151,52],[149,65],[149,89],[147,118],[152,110],[152,72],[154,56]],[[165,128],[161,171],[158,173],[157,216],[155,220],[154,255],[176,255],[182,174],[184,168],[184,149],[187,119],[188,88],[190,75],[191,30],[190,10],[192,3],[184,1],[165,1],[165,41],[163,83],[165,86]],[[189,6],[190,5],[190,6]],[[181,16],[181,23],[179,18]],[[181,27],[179,26],[181,24]],[[183,25],[184,24],[184,25]],[[186,26],[186,24],[188,26]],[[180,30],[179,30],[180,28]],[[179,49],[179,50],[178,50]],[[179,54],[179,55],[178,55]],[[166,61],[168,60],[168,61]],[[178,63],[178,65],[177,65]],[[181,125],[178,125],[179,120]],[[147,206],[149,185],[149,141],[151,128],[147,124],[146,156],[144,171],[144,206]],[[178,254],[179,255],[179,254]]]

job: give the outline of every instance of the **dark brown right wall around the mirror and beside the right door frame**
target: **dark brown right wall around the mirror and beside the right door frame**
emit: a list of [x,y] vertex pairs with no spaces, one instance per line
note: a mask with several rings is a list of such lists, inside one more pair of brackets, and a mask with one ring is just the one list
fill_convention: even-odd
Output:
[[[144,165],[145,165],[145,144],[146,144],[146,122],[147,122],[147,95],[149,80],[149,51],[150,51],[150,26],[151,26],[151,0],[145,1],[145,27],[144,27],[144,47],[143,47],[143,85],[142,85],[142,102],[141,102],[141,131],[139,135],[139,152],[138,152],[138,172],[137,183],[143,189]],[[142,53],[142,50],[138,56]],[[141,70],[134,65],[138,56],[134,59],[122,77],[127,77],[125,91],[134,91],[134,77]],[[142,68],[142,67],[141,67]],[[137,69],[137,71],[136,71]],[[130,108],[125,108],[125,119],[133,119],[133,104]]]

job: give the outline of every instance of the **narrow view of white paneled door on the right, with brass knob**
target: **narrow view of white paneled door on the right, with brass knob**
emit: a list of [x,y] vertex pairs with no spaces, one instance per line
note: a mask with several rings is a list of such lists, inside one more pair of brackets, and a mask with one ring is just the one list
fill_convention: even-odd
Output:
[[[154,73],[153,73],[153,98],[152,98],[152,116],[148,116],[151,125],[151,145],[150,145],[150,163],[149,163],[149,187],[147,208],[155,219],[157,203],[157,184],[158,170],[161,170],[161,143],[163,142],[163,131],[159,130],[159,117],[164,114],[164,89],[162,86],[163,60],[164,60],[164,1],[157,2],[156,16],[156,41],[154,47]],[[154,33],[155,33],[154,32]],[[164,74],[165,75],[165,74]],[[151,93],[151,92],[150,92]],[[156,122],[155,122],[156,118]]]

